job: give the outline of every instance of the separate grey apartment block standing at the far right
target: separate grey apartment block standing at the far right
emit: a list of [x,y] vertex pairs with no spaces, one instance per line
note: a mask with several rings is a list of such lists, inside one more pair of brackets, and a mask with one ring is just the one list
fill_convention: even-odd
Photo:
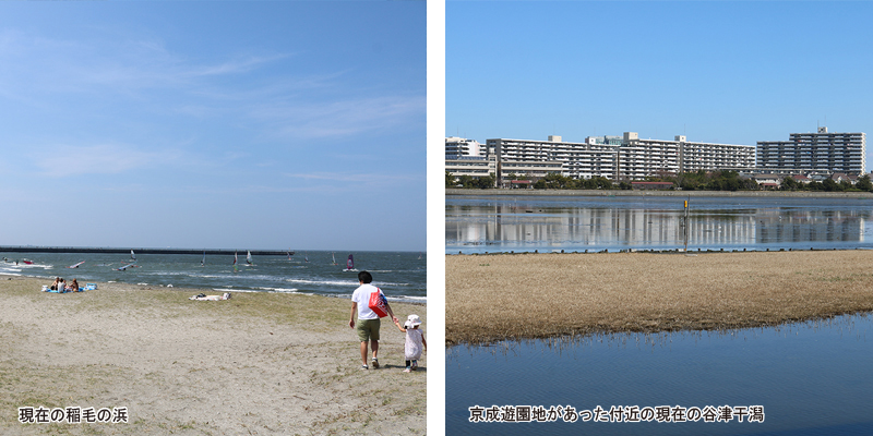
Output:
[[758,141],[757,167],[762,170],[791,169],[824,173],[866,172],[866,134],[791,133],[788,141]]

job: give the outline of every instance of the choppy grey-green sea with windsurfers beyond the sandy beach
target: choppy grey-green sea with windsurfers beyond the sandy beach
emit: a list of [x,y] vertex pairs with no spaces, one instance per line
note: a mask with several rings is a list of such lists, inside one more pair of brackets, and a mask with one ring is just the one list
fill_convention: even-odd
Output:
[[[154,287],[205,288],[220,292],[287,292],[350,296],[359,286],[358,270],[368,270],[373,284],[388,301],[427,302],[427,258],[412,252],[354,252],[355,271],[346,269],[349,253],[312,251],[292,256],[254,256],[242,253],[234,268],[232,255],[136,254],[134,267],[117,270],[132,261],[125,254],[0,253],[0,274],[55,277],[68,282],[123,282]],[[337,265],[333,265],[336,257]],[[27,265],[27,259],[33,264]],[[77,268],[68,268],[82,261]]]

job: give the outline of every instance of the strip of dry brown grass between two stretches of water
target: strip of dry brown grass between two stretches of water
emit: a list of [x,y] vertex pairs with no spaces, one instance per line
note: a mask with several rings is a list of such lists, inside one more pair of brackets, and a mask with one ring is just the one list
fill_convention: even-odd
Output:
[[868,312],[871,261],[870,251],[450,255],[446,344]]

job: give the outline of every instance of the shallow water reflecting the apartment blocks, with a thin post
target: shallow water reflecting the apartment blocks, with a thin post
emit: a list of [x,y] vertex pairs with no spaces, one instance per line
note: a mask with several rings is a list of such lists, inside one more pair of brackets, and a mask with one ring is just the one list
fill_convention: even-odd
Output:
[[445,253],[873,249],[873,199],[450,196]]

